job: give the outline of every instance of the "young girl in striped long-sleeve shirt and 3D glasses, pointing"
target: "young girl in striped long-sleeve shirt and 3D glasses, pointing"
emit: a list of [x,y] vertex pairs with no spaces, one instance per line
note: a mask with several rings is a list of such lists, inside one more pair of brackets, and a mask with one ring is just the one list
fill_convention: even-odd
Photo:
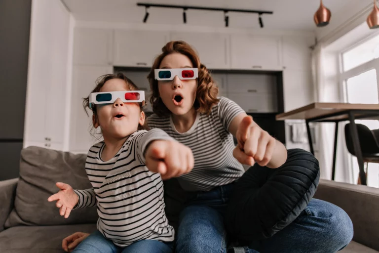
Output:
[[72,209],[97,205],[98,231],[75,252],[172,252],[174,229],[165,216],[160,174],[189,172],[193,156],[162,130],[138,130],[145,114],[144,93],[137,89],[123,74],[105,75],[84,99],[104,137],[87,155],[93,188],[73,190],[57,183],[61,190],[48,199],[57,201],[65,218]]

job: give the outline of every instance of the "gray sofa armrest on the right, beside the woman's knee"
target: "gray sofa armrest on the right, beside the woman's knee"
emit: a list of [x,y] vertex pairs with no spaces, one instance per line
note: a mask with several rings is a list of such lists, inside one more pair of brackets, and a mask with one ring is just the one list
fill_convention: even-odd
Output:
[[379,251],[378,188],[320,180],[314,198],[342,208],[353,222],[353,240]]

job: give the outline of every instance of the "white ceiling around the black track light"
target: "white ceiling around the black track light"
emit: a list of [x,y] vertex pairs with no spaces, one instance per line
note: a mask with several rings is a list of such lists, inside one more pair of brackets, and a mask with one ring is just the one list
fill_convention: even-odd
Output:
[[[207,7],[225,7],[241,9],[259,9],[273,11],[273,15],[263,15],[265,29],[305,30],[316,29],[313,22],[314,12],[320,5],[319,0],[62,0],[73,13],[76,20],[143,23],[145,8],[137,2],[192,5]],[[344,4],[356,0],[323,0],[333,13],[341,10]],[[181,9],[149,8],[149,24],[181,24]],[[230,28],[259,29],[258,15],[253,13],[229,12]],[[187,24],[194,26],[224,27],[222,11],[187,10]]]

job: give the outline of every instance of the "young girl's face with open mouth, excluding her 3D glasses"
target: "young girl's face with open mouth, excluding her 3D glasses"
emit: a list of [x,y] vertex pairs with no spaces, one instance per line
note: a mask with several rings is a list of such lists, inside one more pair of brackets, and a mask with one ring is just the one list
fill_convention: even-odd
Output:
[[[111,79],[105,82],[100,92],[129,90],[124,80]],[[97,119],[93,115],[95,128],[101,128],[104,137],[124,138],[137,131],[145,122],[145,113],[138,103],[124,103],[117,98],[113,104],[98,104]]]

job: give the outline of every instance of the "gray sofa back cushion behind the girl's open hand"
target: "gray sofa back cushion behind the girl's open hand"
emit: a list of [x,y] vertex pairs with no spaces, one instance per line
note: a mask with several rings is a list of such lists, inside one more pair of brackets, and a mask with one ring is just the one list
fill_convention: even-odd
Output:
[[95,223],[98,218],[96,207],[74,210],[65,219],[55,203],[47,201],[51,194],[58,192],[55,185],[58,181],[68,183],[74,189],[91,187],[85,173],[85,159],[84,154],[40,147],[23,149],[14,208],[4,226]]

